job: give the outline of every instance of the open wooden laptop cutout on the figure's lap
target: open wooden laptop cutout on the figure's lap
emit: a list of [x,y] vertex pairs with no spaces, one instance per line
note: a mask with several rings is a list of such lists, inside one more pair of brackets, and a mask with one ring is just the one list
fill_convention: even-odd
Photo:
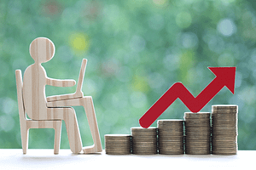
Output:
[[77,84],[77,90],[74,94],[62,94],[62,95],[55,95],[55,96],[49,96],[47,97],[47,101],[57,101],[62,99],[76,99],[76,98],[82,98],[84,96],[82,92],[83,87],[83,79],[84,79],[84,72],[87,64],[87,59],[83,59],[80,73],[79,73],[79,81]]

